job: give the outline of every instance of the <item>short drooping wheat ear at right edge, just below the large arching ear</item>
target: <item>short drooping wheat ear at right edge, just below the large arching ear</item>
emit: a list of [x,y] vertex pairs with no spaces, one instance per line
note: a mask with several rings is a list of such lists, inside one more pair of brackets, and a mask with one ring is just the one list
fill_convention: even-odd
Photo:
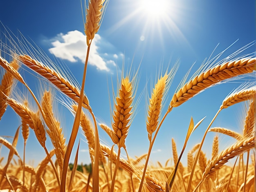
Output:
[[225,98],[222,102],[222,105],[220,106],[220,109],[225,109],[231,105],[234,105],[236,103],[243,102],[245,100],[252,99],[256,93],[256,87],[250,87],[247,89],[242,89],[238,92],[234,92],[233,94],[230,94]]

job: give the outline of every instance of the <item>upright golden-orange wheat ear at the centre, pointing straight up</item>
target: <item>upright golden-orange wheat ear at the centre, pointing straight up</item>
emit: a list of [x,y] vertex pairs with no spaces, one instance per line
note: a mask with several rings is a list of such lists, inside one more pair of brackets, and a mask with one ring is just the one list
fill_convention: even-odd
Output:
[[125,138],[128,134],[128,129],[130,127],[130,117],[132,110],[132,83],[129,81],[129,78],[122,78],[121,87],[119,89],[119,96],[116,98],[115,111],[113,114],[112,128],[115,132],[115,135],[118,137],[118,142],[115,141],[119,148],[125,146]]

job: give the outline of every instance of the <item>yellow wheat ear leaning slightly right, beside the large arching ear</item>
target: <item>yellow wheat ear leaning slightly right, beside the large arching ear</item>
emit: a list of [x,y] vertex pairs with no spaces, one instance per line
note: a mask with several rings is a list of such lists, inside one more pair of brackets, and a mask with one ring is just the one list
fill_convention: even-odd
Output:
[[155,88],[153,89],[151,98],[149,99],[148,117],[146,121],[149,141],[152,140],[152,134],[157,129],[157,125],[159,123],[159,115],[162,109],[162,100],[166,88],[168,88],[168,81],[168,74],[161,76],[155,84]]

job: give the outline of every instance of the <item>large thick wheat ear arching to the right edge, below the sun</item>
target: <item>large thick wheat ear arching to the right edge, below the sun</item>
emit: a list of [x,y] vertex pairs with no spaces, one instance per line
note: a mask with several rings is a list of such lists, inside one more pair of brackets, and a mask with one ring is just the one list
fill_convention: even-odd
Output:
[[255,69],[255,63],[255,58],[245,58],[217,65],[216,67],[201,73],[186,83],[173,95],[170,108],[180,106],[204,89],[219,83],[222,80],[251,73]]

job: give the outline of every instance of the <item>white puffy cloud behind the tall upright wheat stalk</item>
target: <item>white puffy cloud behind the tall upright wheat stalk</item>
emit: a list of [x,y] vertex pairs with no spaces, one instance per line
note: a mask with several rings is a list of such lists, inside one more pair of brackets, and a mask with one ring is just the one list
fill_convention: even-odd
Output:
[[[90,47],[90,56],[88,64],[96,66],[99,70],[109,71],[108,64],[116,66],[112,60],[102,58],[98,52],[101,37],[95,34]],[[52,42],[53,47],[49,49],[54,56],[69,60],[70,62],[85,62],[87,45],[86,36],[80,31],[69,31],[67,34],[60,33],[56,36],[55,41]],[[103,54],[104,55],[104,54]],[[115,54],[116,55],[116,54]]]

